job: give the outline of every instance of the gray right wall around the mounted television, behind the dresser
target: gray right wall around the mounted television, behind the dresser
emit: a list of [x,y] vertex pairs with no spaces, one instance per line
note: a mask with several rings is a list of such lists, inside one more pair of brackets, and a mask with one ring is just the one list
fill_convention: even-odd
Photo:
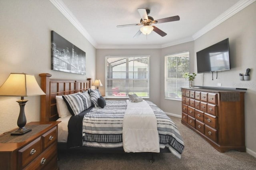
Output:
[[[204,74],[204,86],[247,88],[245,93],[245,131],[247,152],[256,156],[256,2],[244,8],[222,24],[194,41],[195,52],[216,42],[229,38],[231,69]],[[194,54],[196,55],[196,54]],[[196,60],[194,60],[196,70]],[[245,73],[250,68],[250,81],[240,81],[239,73]],[[198,74],[196,85],[203,85],[203,74]],[[235,123],[235,122],[234,122]]]

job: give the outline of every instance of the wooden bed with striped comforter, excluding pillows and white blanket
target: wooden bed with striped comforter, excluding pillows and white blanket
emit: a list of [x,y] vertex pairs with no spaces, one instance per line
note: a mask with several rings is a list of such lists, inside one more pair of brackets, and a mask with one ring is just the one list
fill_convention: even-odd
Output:
[[[40,74],[41,88],[46,93],[46,95],[41,96],[40,119],[41,121],[62,121],[58,125],[58,149],[87,150],[90,152],[124,152],[123,145],[126,144],[126,141],[122,141],[124,137],[122,136],[122,130],[125,129],[122,129],[123,121],[127,117],[128,108],[134,108],[135,105],[128,103],[129,101],[106,100],[104,108],[92,105],[76,116],[59,117],[56,96],[87,93],[91,83],[90,79],[51,79],[51,76],[48,73]],[[176,125],[154,103],[144,100],[143,102],[151,108],[157,121],[159,151],[172,152],[172,154],[180,158],[184,150],[184,143]],[[133,105],[130,106],[130,104]],[[134,120],[136,121],[136,119]],[[115,123],[114,127],[106,127],[106,124],[111,125],[113,123],[102,123],[104,121],[118,123]],[[87,126],[92,124],[99,126],[93,128]],[[106,131],[106,128],[110,130]],[[99,129],[104,129],[105,132],[101,132]]]

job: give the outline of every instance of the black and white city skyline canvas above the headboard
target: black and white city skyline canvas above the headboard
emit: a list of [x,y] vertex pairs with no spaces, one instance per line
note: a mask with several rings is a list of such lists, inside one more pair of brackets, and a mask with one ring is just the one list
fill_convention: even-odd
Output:
[[52,70],[86,75],[85,52],[51,31]]

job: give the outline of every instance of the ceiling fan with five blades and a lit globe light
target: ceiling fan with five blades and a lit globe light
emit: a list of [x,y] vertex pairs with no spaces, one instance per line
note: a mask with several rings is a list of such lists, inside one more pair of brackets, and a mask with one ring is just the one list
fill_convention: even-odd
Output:
[[120,25],[120,26],[116,26],[116,27],[121,28],[121,27],[128,27],[128,26],[143,26],[135,34],[134,38],[138,37],[141,33],[143,33],[145,35],[148,35],[152,31],[154,31],[157,34],[159,34],[160,36],[164,37],[167,34],[165,32],[163,32],[162,30],[160,30],[159,28],[157,28],[156,26],[151,26],[151,24],[160,24],[160,23],[164,23],[164,22],[172,22],[172,21],[180,20],[180,17],[178,15],[177,16],[171,16],[171,17],[168,17],[168,18],[162,18],[162,19],[159,19],[159,20],[154,20],[153,17],[148,16],[148,14],[150,13],[150,10],[144,9],[144,8],[138,8],[138,12],[140,13],[140,16],[141,16],[139,24],[127,24],[127,25]]

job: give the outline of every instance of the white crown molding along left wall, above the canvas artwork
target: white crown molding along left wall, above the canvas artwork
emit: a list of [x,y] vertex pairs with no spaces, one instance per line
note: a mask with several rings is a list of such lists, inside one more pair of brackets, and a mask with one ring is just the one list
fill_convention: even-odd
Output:
[[82,24],[76,19],[68,7],[62,2],[62,0],[49,0],[52,4],[71,22],[71,24],[94,46],[97,43],[90,36],[90,34],[84,29]]

